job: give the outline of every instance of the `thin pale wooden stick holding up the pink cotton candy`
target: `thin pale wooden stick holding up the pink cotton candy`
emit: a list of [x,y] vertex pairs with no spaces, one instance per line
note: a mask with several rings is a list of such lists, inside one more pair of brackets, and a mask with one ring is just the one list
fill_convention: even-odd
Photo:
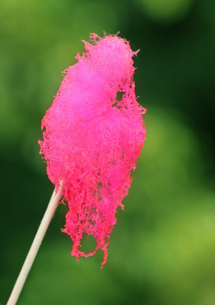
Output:
[[40,226],[36,232],[36,235],[34,237],[32,246],[28,252],[28,255],[25,259],[25,262],[21,268],[21,271],[19,273],[19,276],[17,278],[17,282],[11,292],[10,298],[7,302],[7,305],[15,305],[17,303],[17,299],[19,297],[19,294],[22,290],[22,287],[25,284],[25,280],[28,276],[28,273],[32,267],[33,261],[35,259],[35,256],[37,254],[37,251],[42,243],[42,240],[44,238],[44,235],[46,234],[46,231],[49,227],[50,221],[54,215],[55,210],[58,207],[58,203],[63,191],[63,187],[64,187],[64,181],[60,182],[60,188],[57,192],[57,194],[55,194],[56,188],[54,189],[52,196],[50,198],[50,202],[48,204],[47,210],[43,216],[43,219],[40,223]]

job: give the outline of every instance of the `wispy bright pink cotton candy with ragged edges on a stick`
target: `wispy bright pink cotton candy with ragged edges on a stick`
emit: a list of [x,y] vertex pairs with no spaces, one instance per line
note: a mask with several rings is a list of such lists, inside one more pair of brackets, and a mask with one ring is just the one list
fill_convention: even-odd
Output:
[[[107,261],[116,208],[131,186],[131,171],[146,136],[146,110],[134,92],[133,60],[129,42],[117,35],[91,34],[78,62],[65,77],[42,120],[39,141],[51,182],[64,180],[68,203],[66,232],[73,241],[71,254],[91,256],[104,251]],[[117,93],[121,92],[121,98]],[[120,99],[120,100],[119,100]],[[81,250],[83,233],[93,235],[97,247]]]

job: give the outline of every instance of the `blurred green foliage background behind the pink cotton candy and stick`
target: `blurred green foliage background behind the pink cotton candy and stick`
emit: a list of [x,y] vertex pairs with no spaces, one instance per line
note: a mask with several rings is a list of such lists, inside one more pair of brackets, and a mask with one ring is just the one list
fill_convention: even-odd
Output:
[[[215,304],[214,0],[0,3],[0,305],[53,190],[40,122],[62,71],[103,31],[130,40],[144,144],[108,263],[70,256],[60,205],[17,304]],[[90,238],[83,249],[92,248]]]

